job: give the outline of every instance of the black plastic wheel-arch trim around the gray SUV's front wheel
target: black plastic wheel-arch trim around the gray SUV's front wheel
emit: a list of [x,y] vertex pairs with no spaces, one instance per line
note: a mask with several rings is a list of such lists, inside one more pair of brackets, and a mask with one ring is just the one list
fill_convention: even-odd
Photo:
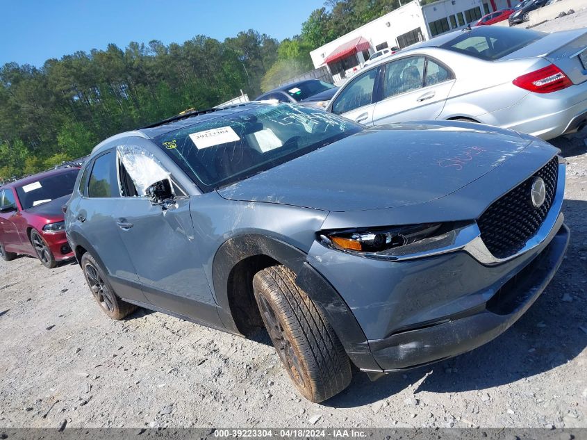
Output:
[[229,331],[240,334],[229,305],[229,275],[240,261],[256,255],[270,256],[292,270],[297,276],[296,284],[326,316],[353,363],[361,369],[381,371],[371,355],[363,330],[338,292],[310,266],[304,252],[271,236],[247,234],[229,238],[214,256],[213,285],[220,318]]

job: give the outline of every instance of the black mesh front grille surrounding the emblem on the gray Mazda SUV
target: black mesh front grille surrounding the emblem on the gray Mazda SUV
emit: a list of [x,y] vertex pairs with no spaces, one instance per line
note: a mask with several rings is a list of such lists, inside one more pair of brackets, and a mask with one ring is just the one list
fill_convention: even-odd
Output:
[[[506,258],[518,252],[536,235],[552,206],[559,175],[559,158],[554,156],[532,177],[497,199],[477,220],[481,239],[497,258]],[[541,177],[546,197],[540,208],[531,202],[531,186],[535,177]]]

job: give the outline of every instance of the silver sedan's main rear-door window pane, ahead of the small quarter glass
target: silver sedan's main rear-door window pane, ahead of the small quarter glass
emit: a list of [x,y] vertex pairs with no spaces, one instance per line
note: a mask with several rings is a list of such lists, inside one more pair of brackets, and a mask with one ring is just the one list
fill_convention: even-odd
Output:
[[423,56],[411,56],[388,63],[383,76],[383,98],[422,88],[424,60]]

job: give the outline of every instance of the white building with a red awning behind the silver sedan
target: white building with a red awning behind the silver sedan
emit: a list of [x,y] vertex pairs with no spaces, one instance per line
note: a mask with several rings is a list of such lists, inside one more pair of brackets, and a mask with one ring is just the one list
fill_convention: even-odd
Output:
[[390,13],[310,52],[314,67],[328,65],[338,81],[361,68],[377,50],[403,49],[441,33],[463,28],[494,10],[520,0],[439,0],[427,5],[413,0]]

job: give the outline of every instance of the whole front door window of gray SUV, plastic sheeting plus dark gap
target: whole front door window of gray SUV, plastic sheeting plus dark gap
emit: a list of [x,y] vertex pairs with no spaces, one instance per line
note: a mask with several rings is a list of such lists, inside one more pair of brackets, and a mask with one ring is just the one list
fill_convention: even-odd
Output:
[[174,188],[170,174],[153,154],[135,145],[119,145],[116,149],[120,189],[124,197],[144,197],[147,188],[161,180],[169,180]]

